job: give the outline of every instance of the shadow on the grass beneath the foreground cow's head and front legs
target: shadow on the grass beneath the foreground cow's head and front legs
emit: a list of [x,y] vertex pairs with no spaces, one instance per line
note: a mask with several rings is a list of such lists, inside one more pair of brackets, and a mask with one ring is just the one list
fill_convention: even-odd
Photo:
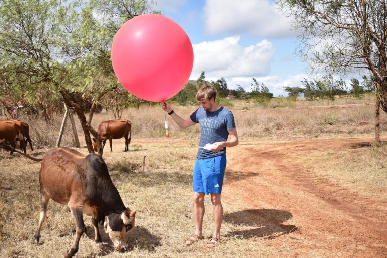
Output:
[[[101,250],[98,256],[105,256],[113,253],[115,251],[113,247],[113,242],[110,240],[109,235],[105,233],[103,226],[99,226],[99,233],[101,235],[103,245],[100,245]],[[95,239],[94,228],[92,226],[87,226],[85,235],[86,237],[94,240]],[[136,226],[129,233],[127,237],[127,244],[126,244],[125,250],[122,251],[122,253],[132,251],[135,248],[135,246],[142,250],[148,250],[148,252],[154,252],[155,247],[161,245],[160,240],[161,240],[160,237],[151,234],[146,228]]]

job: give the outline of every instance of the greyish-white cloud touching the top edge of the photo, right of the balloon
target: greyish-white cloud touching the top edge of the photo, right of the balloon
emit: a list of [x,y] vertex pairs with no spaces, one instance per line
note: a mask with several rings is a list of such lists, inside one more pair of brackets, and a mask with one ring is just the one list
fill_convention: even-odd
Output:
[[292,37],[290,21],[269,0],[207,0],[204,7],[205,31],[210,34]]

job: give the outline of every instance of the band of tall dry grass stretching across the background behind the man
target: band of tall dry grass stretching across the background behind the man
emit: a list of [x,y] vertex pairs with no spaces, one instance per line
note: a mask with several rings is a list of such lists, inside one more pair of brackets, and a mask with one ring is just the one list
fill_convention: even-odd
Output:
[[[345,103],[356,105],[349,107],[337,106]],[[252,101],[246,103],[242,100],[232,100],[231,104],[232,106],[227,106],[227,108],[235,116],[239,136],[245,138],[288,139],[327,135],[348,137],[357,134],[369,134],[374,131],[374,106],[373,103],[365,105],[364,99],[347,98],[337,99],[334,102],[328,100],[313,102],[298,100],[294,102],[286,98],[278,98],[272,99],[268,107],[261,107]],[[176,106],[173,104],[172,106],[184,118],[189,117],[192,111],[197,108],[197,106]],[[306,106],[309,106],[309,108]],[[56,114],[51,124],[48,125],[41,118],[23,116],[21,120],[30,125],[30,135],[34,146],[37,148],[51,148],[57,142],[62,118],[62,114]],[[122,118],[132,122],[132,139],[163,138],[165,135],[165,120],[168,121],[169,134],[172,139],[191,139],[192,143],[196,144],[200,133],[199,126],[181,130],[161,110],[158,103],[154,106],[144,105],[139,109],[127,109],[123,112]],[[85,140],[82,128],[75,115],[74,119],[81,146],[84,146]],[[96,114],[93,117],[92,126],[97,130],[99,123],[112,119],[114,119],[113,115],[106,111]],[[380,128],[385,130],[386,127],[387,114],[381,111]],[[73,146],[73,142],[71,125],[68,120],[61,145]]]

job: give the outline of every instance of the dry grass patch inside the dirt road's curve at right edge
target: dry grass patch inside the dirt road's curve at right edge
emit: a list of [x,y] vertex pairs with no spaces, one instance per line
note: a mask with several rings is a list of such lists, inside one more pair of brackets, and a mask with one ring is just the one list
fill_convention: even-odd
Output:
[[387,199],[387,144],[364,145],[361,149],[342,151],[313,151],[304,157],[314,171],[354,193],[375,199]]

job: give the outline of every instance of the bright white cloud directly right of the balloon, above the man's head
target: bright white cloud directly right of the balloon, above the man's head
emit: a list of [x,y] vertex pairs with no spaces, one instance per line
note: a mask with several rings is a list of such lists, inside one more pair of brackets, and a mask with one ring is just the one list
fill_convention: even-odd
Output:
[[202,71],[206,76],[215,78],[268,74],[274,53],[272,43],[262,40],[243,48],[239,39],[239,36],[234,36],[194,44],[195,62],[191,79],[197,79]]

